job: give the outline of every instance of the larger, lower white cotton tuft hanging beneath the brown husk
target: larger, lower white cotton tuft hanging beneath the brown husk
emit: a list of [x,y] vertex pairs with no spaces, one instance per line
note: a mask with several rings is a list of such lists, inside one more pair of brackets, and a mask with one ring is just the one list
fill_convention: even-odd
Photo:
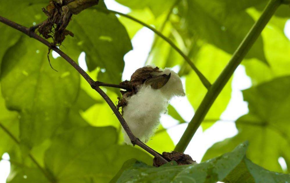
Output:
[[[127,101],[127,106],[123,108],[123,117],[132,133],[146,143],[158,127],[161,113],[166,112],[168,99],[160,90],[143,85]],[[131,144],[124,129],[122,132],[125,142]]]

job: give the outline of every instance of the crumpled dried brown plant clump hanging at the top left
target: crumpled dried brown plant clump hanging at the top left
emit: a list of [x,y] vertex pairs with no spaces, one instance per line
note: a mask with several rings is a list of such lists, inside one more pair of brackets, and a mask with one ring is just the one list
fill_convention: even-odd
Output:
[[44,22],[32,27],[44,38],[52,38],[53,46],[60,46],[67,35],[74,36],[68,30],[68,26],[73,14],[78,14],[82,10],[98,4],[98,0],[50,0],[45,8],[42,8],[48,17]]

